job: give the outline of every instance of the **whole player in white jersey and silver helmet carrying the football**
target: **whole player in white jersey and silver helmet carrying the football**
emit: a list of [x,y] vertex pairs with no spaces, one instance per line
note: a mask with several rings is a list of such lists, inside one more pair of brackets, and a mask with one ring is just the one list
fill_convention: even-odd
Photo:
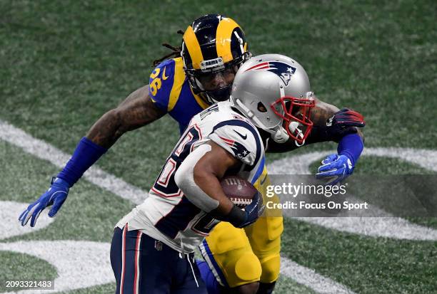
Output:
[[238,209],[220,179],[231,173],[253,182],[263,172],[268,140],[302,144],[311,132],[315,103],[305,70],[285,56],[254,58],[256,65],[236,74],[230,102],[191,119],[149,198],[116,225],[111,265],[117,293],[206,293],[195,248],[218,221],[243,228],[263,212],[261,194]]

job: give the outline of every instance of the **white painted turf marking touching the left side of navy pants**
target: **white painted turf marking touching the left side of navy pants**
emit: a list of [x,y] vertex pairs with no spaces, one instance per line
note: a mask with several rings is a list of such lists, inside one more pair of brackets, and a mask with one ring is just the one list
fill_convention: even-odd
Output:
[[[91,241],[18,241],[0,243],[0,251],[29,254],[56,268],[54,290],[19,290],[8,293],[59,293],[115,282],[109,261],[109,243]],[[44,278],[44,277],[43,277]]]

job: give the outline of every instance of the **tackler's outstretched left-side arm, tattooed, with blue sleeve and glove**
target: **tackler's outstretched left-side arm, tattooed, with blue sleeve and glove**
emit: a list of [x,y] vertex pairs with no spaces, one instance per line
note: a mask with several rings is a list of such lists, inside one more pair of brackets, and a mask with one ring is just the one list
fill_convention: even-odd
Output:
[[61,208],[69,194],[69,189],[81,178],[116,140],[125,132],[149,124],[163,116],[149,96],[149,85],[131,93],[118,107],[109,110],[91,127],[83,137],[66,166],[52,179],[51,187],[39,199],[31,203],[19,216],[22,226],[31,219],[35,226],[39,214],[51,206],[49,216],[53,217]]

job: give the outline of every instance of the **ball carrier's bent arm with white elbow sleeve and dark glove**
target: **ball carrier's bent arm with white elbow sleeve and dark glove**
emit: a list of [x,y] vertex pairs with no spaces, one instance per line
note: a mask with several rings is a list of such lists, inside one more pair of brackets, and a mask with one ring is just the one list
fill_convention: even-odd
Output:
[[214,218],[239,228],[248,226],[258,218],[261,196],[254,196],[252,203],[241,210],[226,197],[220,184],[226,171],[239,165],[241,162],[231,153],[211,141],[184,160],[175,174],[176,184],[194,205]]

